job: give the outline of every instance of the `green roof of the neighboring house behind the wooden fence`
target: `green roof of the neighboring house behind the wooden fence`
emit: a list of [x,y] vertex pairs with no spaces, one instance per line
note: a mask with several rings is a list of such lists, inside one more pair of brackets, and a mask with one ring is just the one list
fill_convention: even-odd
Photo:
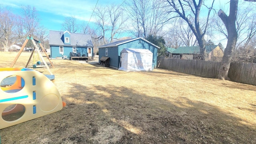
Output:
[[[209,54],[218,45],[205,46],[206,53]],[[199,46],[182,46],[172,52],[173,54],[200,54]]]

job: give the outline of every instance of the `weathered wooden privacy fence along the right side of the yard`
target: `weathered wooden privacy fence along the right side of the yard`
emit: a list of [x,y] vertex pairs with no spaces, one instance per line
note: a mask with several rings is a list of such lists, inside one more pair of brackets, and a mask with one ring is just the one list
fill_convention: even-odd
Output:
[[[158,57],[157,67],[208,78],[218,78],[220,62]],[[256,85],[256,64],[231,62],[228,77],[234,82]]]

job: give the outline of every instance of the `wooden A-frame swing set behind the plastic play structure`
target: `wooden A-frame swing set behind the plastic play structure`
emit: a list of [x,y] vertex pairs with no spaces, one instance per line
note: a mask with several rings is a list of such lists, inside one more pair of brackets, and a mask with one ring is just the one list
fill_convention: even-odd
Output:
[[[36,42],[34,41],[33,37],[31,36],[31,34],[29,34],[28,37],[26,38],[24,44],[23,44],[22,47],[20,48],[20,51],[18,52],[17,56],[15,57],[14,61],[12,62],[10,68],[13,68],[14,64],[17,62],[17,60],[18,60],[20,54],[22,53],[22,51],[24,50],[26,44],[28,43],[28,40],[31,40],[31,41],[32,41],[32,43],[33,43],[33,45],[34,45],[34,49],[33,49],[32,52],[31,52],[31,55],[30,55],[30,57],[29,57],[29,59],[28,59],[28,62],[27,62],[27,64],[26,64],[26,67],[25,67],[25,68],[29,68],[29,67],[30,67],[30,64],[31,64],[31,62],[32,62],[33,68],[42,68],[42,67],[46,67],[47,70],[50,72],[50,74],[53,75],[52,72],[50,71],[50,67],[48,66],[48,64],[47,64],[46,61],[44,60],[42,54],[40,53],[40,50],[39,50],[38,46],[36,45]],[[51,62],[49,56],[47,55],[47,53],[46,53],[44,47],[42,46],[41,42],[39,41],[38,43],[39,43],[40,47],[42,48],[44,54],[46,55],[47,59],[49,60],[50,66],[52,66],[52,68],[54,68],[54,65],[52,64],[52,62]],[[35,51],[36,51],[36,53],[37,53],[37,56],[35,56]],[[33,57],[33,60],[31,61],[31,58],[32,58],[32,57]],[[42,62],[44,63],[44,65],[42,65],[42,63],[41,63],[40,60],[42,60]]]

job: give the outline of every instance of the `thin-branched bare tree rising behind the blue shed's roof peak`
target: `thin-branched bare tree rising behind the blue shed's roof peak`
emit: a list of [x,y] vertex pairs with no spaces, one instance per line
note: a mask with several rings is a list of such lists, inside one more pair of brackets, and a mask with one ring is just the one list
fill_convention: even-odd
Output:
[[166,16],[159,0],[126,1],[125,10],[131,20],[130,31],[136,37],[157,36],[166,24]]

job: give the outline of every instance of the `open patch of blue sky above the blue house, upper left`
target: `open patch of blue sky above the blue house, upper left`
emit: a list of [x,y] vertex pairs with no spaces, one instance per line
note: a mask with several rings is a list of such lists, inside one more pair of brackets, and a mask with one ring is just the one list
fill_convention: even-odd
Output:
[[[122,0],[98,0],[98,4],[122,4]],[[34,6],[38,11],[40,25],[49,30],[61,30],[65,17],[75,16],[78,22],[88,23],[97,0],[1,0],[0,4],[8,6],[15,14],[21,11],[20,6]],[[91,19],[91,22],[94,20]]]

